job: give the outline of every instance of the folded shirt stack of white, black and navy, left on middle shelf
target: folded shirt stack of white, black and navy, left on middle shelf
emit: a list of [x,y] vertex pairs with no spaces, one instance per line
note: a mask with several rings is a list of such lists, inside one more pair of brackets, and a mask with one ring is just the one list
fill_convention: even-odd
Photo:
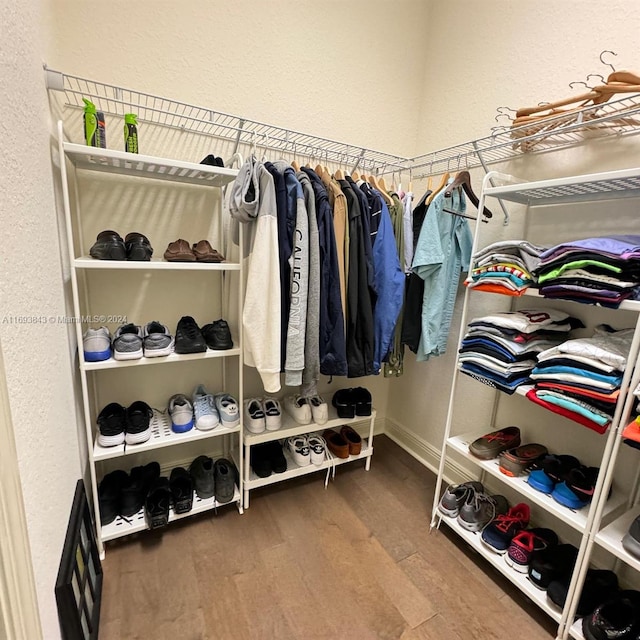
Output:
[[565,341],[582,323],[562,311],[523,309],[475,318],[460,346],[460,370],[512,394],[531,384],[529,374],[541,351]]

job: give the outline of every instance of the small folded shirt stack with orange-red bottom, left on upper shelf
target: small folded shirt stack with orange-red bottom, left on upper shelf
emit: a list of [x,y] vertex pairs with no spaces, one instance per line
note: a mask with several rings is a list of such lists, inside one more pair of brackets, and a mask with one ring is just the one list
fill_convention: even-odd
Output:
[[534,270],[546,247],[526,240],[494,242],[477,251],[465,285],[478,291],[521,296],[535,282]]

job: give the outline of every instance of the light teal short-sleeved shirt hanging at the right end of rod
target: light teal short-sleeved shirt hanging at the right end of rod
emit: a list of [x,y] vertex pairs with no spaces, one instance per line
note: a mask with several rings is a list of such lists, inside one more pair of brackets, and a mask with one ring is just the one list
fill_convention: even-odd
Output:
[[429,205],[413,256],[413,272],[424,280],[422,335],[416,359],[428,360],[447,348],[460,273],[468,271],[472,238],[464,213],[464,194],[456,189],[447,198],[443,189]]

